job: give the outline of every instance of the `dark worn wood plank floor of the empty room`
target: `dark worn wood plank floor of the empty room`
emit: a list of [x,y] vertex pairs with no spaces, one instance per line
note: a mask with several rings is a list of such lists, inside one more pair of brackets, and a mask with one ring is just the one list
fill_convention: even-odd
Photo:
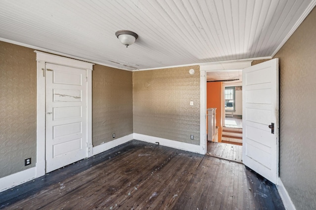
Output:
[[0,209],[283,210],[237,162],[133,140],[0,193]]

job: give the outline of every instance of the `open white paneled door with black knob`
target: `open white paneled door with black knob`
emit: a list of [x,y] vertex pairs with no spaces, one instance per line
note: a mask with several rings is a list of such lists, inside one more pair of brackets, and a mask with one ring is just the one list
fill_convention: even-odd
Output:
[[[242,161],[267,180],[276,183],[278,59],[242,70],[242,104]],[[272,123],[274,130],[270,128]]]

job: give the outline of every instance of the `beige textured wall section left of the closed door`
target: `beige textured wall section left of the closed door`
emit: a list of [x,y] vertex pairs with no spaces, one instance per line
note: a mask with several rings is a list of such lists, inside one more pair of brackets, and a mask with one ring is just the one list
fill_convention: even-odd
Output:
[[32,49],[0,41],[0,178],[35,166],[36,71]]

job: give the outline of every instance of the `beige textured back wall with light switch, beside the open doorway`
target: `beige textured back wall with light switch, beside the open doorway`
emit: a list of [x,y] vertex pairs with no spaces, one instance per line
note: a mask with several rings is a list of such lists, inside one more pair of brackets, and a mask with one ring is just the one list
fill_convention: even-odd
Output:
[[199,100],[199,66],[133,72],[134,133],[199,145]]

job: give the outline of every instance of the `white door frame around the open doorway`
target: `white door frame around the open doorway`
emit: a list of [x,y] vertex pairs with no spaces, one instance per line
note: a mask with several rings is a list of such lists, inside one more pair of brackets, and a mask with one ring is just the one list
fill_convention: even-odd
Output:
[[200,65],[200,154],[207,152],[206,138],[206,73],[209,71],[239,70],[251,66],[252,60],[239,62],[208,63]]

